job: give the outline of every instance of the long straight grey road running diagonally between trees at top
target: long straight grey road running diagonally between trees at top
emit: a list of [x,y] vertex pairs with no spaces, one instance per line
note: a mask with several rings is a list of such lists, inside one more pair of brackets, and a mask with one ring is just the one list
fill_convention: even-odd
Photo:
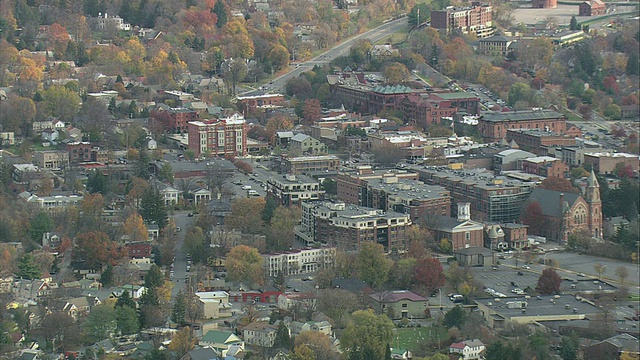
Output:
[[300,63],[299,67],[293,68],[288,73],[280,75],[279,77],[273,79],[272,84],[268,85],[269,92],[281,92],[282,89],[284,89],[284,85],[289,79],[297,77],[303,72],[313,69],[313,67],[316,65],[326,65],[331,60],[337,57],[349,54],[349,49],[359,39],[369,39],[371,40],[371,42],[377,42],[408,26],[409,24],[407,22],[407,18],[401,17],[378,26],[377,28],[369,30],[365,33],[353,36],[334,46],[333,48],[325,51],[324,53],[318,55],[317,57],[309,61]]

